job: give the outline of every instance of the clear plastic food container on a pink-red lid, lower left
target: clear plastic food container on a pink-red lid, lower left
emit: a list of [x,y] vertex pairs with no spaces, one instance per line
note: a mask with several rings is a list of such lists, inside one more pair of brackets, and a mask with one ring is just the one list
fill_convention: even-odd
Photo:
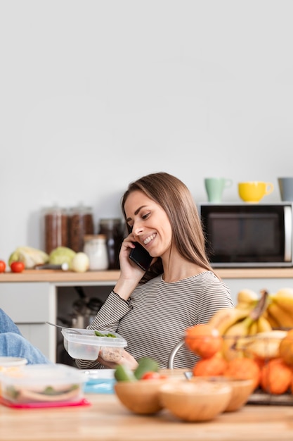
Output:
[[0,373],[2,397],[13,404],[79,402],[84,375],[63,364],[34,364]]

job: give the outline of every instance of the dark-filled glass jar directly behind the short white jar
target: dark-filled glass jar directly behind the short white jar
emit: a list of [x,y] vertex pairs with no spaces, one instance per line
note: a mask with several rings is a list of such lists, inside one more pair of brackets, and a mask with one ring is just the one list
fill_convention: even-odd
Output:
[[83,251],[85,235],[93,235],[93,210],[81,205],[70,209],[69,247],[76,252]]

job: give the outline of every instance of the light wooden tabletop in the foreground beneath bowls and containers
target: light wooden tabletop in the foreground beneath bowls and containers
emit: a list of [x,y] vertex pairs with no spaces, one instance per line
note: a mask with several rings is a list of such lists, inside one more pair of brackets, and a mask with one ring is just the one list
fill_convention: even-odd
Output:
[[86,395],[91,406],[10,409],[0,406],[1,441],[277,441],[293,440],[292,406],[247,405],[204,423],[168,411],[131,414],[115,395]]

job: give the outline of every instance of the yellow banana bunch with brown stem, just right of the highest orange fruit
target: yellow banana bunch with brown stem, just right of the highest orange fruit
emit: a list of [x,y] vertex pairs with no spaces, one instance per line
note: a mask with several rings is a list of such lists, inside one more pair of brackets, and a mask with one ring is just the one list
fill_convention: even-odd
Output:
[[[245,294],[248,295],[248,299],[249,296],[252,296],[251,292],[247,292],[247,290]],[[242,306],[242,308],[238,304],[235,309],[221,309],[210,319],[209,324],[218,329],[223,336],[222,354],[227,360],[245,355],[245,347],[238,344],[240,339],[272,330],[270,323],[263,316],[267,297],[268,292],[263,291],[257,301],[254,298],[252,302],[246,302],[246,306]],[[243,304],[245,302],[242,302]]]

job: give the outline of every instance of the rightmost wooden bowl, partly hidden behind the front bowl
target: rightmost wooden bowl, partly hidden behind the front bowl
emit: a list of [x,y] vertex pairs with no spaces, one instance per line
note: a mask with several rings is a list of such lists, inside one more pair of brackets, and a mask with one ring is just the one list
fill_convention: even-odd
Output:
[[254,391],[254,381],[253,380],[238,380],[237,378],[227,378],[223,376],[219,377],[192,377],[191,381],[197,382],[200,380],[207,380],[211,383],[221,383],[228,384],[232,389],[230,401],[225,409],[225,412],[237,411],[242,406],[244,406],[249,396]]

